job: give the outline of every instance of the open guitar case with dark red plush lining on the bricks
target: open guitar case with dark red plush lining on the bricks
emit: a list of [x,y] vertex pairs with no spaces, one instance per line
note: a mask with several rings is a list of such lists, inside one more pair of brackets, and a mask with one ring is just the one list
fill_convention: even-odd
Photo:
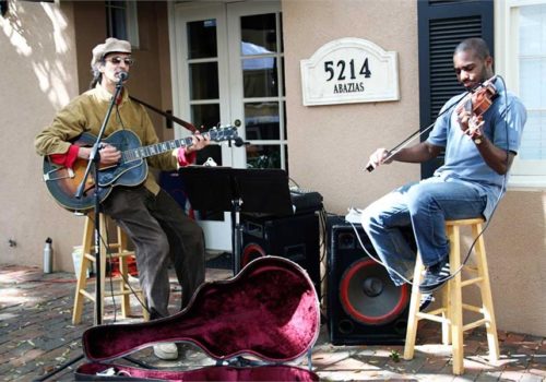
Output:
[[[319,300],[306,271],[287,259],[263,256],[230,279],[204,283],[175,315],[88,329],[82,338],[88,362],[75,370],[75,380],[319,381],[311,370],[319,330]],[[191,342],[216,365],[178,371],[116,363],[163,342]],[[308,369],[284,365],[306,354]]]

